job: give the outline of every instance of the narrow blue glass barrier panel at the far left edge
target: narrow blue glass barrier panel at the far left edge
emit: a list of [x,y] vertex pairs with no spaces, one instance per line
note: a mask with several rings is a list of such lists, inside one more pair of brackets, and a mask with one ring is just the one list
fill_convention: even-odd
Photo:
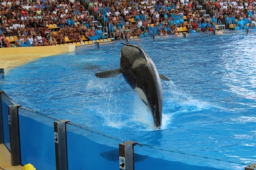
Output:
[[9,134],[9,121],[8,121],[8,106],[14,105],[14,101],[12,101],[8,96],[4,95],[2,93],[2,113],[3,113],[3,132],[4,132],[4,144],[6,145],[6,148],[11,151],[10,146],[10,134]]

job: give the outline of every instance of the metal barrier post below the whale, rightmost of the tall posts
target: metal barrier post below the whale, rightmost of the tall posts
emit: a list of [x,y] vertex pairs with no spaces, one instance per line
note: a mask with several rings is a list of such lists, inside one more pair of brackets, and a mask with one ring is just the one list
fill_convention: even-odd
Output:
[[134,141],[119,144],[119,169],[134,170]]

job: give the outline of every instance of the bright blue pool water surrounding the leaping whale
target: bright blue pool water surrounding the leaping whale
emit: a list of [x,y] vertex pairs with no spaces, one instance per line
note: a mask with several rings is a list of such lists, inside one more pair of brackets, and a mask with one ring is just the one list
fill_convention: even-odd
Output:
[[159,131],[152,129],[150,111],[121,74],[95,77],[119,68],[119,42],[12,69],[0,80],[0,89],[26,108],[120,139],[238,163],[215,165],[219,169],[244,169],[256,162],[256,34],[130,43],[141,46],[159,73],[171,79],[162,81]]

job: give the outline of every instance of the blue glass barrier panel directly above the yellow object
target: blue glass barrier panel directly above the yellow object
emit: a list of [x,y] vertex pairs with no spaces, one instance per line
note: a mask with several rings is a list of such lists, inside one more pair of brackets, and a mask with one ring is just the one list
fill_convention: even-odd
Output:
[[36,169],[56,169],[54,121],[43,114],[19,108],[21,164]]

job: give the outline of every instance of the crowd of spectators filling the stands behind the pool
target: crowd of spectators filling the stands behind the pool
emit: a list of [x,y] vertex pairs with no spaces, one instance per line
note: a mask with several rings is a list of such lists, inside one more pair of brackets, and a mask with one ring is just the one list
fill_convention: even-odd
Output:
[[[75,0],[2,0],[1,46],[11,46],[5,38],[9,36],[17,36],[15,46],[65,44],[82,41],[82,37],[104,39],[105,26],[118,39],[176,34],[181,29],[215,31],[217,20],[237,24],[236,29],[255,26],[256,0],[206,3],[214,11],[213,16],[206,17],[196,0],[85,1],[90,13]],[[95,24],[94,18],[102,26]]]

